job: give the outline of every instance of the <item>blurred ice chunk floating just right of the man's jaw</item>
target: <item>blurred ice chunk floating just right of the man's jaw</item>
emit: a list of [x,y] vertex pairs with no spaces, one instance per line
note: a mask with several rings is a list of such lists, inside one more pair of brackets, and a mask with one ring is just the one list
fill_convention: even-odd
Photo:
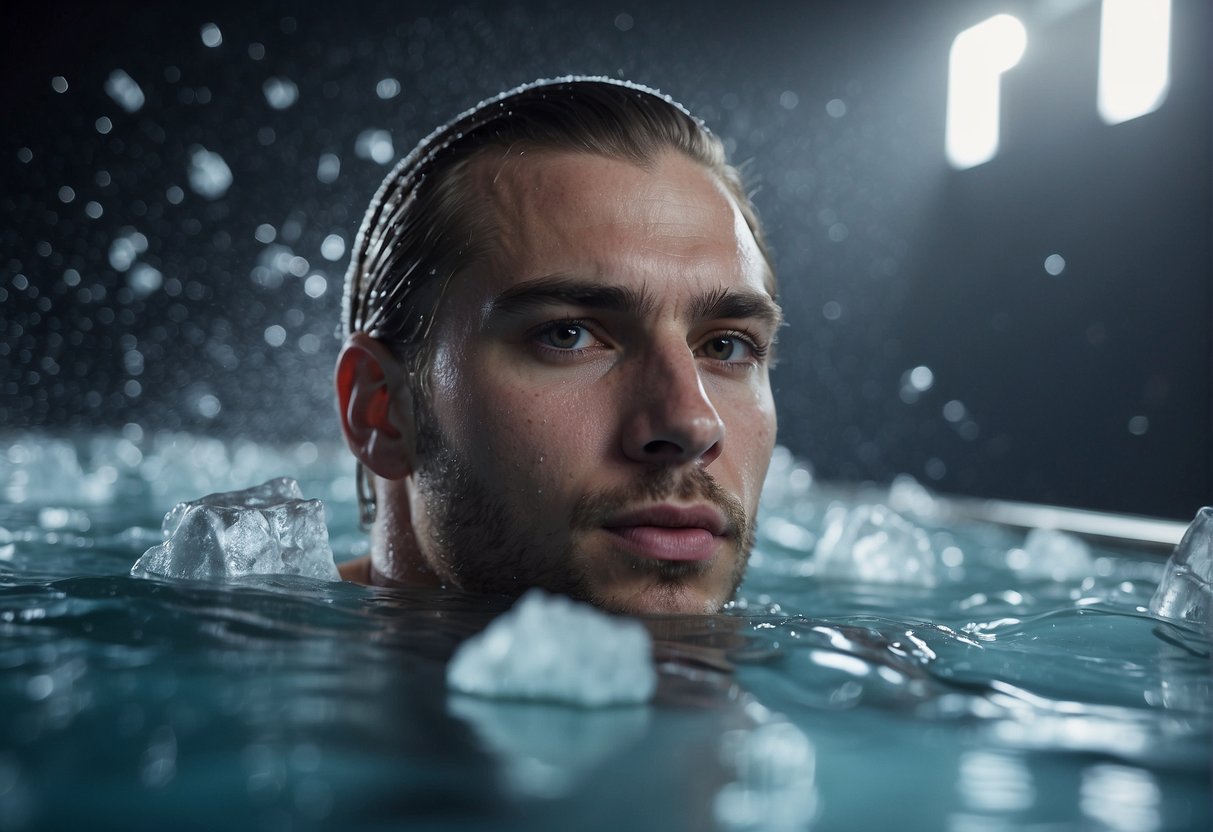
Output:
[[938,559],[927,532],[885,506],[835,506],[816,546],[818,575],[932,587]]

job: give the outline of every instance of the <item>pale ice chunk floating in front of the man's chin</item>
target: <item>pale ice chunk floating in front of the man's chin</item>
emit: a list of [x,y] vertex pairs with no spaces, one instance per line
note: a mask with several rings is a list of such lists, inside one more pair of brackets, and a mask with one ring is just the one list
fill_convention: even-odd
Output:
[[497,699],[636,705],[656,690],[651,651],[638,621],[531,589],[459,649],[446,684]]

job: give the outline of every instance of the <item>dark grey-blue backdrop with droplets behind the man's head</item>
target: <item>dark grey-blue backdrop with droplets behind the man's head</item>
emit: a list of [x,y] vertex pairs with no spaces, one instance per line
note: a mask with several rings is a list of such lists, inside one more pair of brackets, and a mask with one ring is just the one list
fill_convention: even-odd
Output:
[[[10,432],[335,439],[341,281],[387,172],[359,136],[387,131],[394,160],[507,86],[591,73],[670,93],[745,163],[792,321],[781,441],[820,477],[1179,519],[1213,502],[1205,0],[1175,0],[1163,106],[1115,126],[1094,1],[188,6],[0,12]],[[1002,148],[955,171],[949,49],[1003,11],[1029,46]],[[104,90],[115,69],[146,96],[135,113]],[[297,99],[270,107],[268,79]],[[199,147],[232,171],[221,196],[190,187]],[[919,365],[934,381],[915,394]]]

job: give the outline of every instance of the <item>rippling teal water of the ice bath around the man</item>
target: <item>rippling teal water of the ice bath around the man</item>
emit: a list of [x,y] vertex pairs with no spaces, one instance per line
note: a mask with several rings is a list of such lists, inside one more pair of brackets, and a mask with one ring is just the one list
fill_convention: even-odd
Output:
[[1211,826],[1211,640],[1146,612],[1156,554],[1042,563],[901,494],[935,586],[822,576],[870,495],[781,456],[733,609],[648,619],[656,701],[582,711],[448,695],[503,599],[127,576],[176,500],[277,474],[358,554],[337,449],[0,449],[0,830]]

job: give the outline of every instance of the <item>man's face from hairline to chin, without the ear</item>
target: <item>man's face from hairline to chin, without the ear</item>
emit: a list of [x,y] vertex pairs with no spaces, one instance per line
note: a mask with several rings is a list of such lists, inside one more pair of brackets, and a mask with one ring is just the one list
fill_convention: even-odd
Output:
[[468,589],[719,609],[775,440],[779,308],[735,203],[676,153],[649,171],[485,154],[472,188],[499,235],[431,334],[409,489],[428,566]]

